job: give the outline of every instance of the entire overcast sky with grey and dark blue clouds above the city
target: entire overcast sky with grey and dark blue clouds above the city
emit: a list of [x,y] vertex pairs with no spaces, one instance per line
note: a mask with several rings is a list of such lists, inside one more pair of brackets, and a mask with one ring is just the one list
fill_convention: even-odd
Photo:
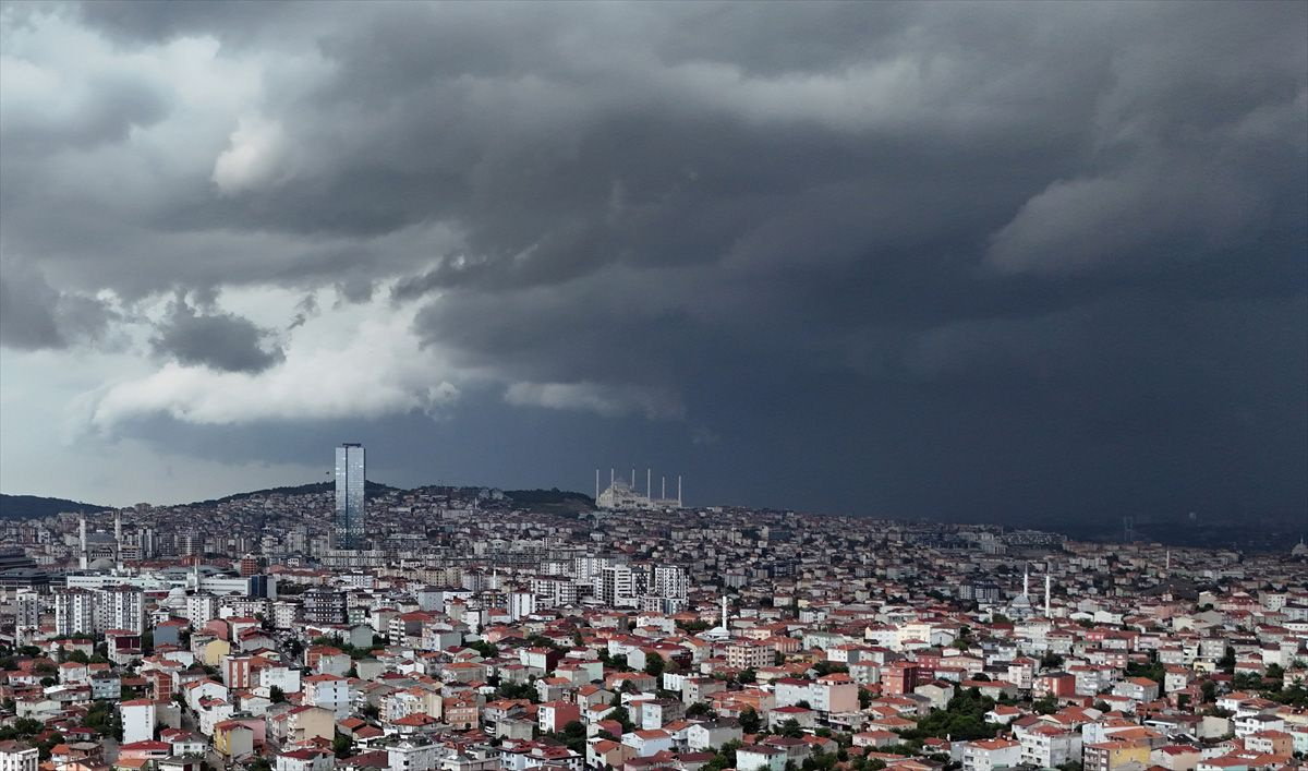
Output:
[[1305,3],[7,3],[0,488],[1308,517]]

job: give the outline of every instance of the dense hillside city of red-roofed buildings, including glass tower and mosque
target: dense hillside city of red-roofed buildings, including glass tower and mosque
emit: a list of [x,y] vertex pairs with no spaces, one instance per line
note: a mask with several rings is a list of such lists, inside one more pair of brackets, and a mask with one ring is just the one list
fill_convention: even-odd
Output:
[[[335,483],[9,520],[4,771],[1261,771],[1308,546]],[[644,484],[642,484],[644,482]]]

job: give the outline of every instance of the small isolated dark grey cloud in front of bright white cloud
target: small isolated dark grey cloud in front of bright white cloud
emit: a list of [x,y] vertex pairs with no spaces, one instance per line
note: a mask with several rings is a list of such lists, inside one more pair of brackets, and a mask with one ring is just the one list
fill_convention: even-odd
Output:
[[191,306],[184,297],[169,304],[150,346],[160,356],[221,372],[262,372],[285,359],[271,330],[232,313]]

